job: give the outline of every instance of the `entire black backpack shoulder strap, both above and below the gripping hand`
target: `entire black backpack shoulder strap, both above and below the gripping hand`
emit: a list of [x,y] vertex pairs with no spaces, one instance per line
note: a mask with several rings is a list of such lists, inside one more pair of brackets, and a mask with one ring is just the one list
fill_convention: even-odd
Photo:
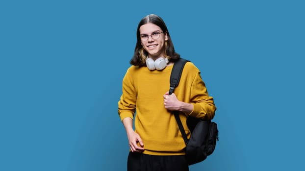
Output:
[[[187,62],[189,61],[183,58],[179,58],[178,61],[175,62],[170,77],[170,90],[168,91],[170,95],[174,92],[174,89],[178,86],[182,74],[182,70]],[[187,144],[188,139],[185,130],[182,126],[178,111],[174,111],[174,115],[178,124],[178,128],[180,129],[180,132],[182,134],[184,143]]]

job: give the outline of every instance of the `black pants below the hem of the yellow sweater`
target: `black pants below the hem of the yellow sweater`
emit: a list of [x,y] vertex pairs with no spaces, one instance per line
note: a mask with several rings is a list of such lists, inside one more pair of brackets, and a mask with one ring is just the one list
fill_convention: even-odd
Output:
[[148,155],[129,152],[127,171],[188,171],[184,155]]

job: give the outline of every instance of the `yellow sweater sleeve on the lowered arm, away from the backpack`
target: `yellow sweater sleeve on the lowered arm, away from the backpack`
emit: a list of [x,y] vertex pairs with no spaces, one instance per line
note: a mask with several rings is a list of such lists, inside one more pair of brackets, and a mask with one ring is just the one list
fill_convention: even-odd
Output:
[[136,104],[136,90],[132,82],[130,68],[127,70],[123,78],[123,93],[118,102],[118,114],[123,121],[124,118],[130,117],[133,119]]

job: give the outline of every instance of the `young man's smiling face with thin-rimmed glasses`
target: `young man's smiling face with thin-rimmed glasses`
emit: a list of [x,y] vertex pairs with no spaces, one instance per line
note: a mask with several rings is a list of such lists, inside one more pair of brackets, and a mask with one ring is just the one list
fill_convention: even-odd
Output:
[[[168,40],[167,34],[163,33],[162,29],[153,23],[143,24],[139,28],[139,31],[140,31],[140,37],[143,38],[148,36],[148,40],[141,41],[141,44],[144,50],[148,52],[149,57],[152,58],[153,60],[156,60],[159,57],[164,57],[163,48],[165,45],[165,41]],[[159,38],[153,39],[153,37],[156,36],[158,33],[160,33]]]

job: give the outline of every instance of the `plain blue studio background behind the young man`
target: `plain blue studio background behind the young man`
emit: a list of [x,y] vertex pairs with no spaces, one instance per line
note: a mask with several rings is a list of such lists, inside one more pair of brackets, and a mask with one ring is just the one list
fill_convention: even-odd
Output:
[[[0,2],[0,171],[125,171],[138,22],[202,71],[220,141],[190,171],[304,171],[302,0]],[[148,87],[149,89],[149,87]]]

